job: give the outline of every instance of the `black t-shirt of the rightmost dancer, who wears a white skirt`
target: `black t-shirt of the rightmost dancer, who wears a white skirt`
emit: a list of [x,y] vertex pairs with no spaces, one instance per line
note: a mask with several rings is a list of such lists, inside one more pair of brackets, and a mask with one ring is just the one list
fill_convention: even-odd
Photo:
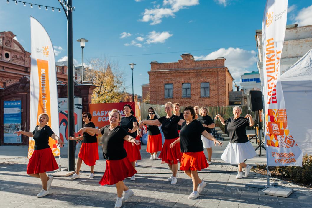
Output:
[[250,122],[248,118],[242,116],[234,119],[231,117],[224,121],[227,125],[227,131],[229,131],[231,143],[245,143],[248,141],[246,135],[246,126],[249,126]]

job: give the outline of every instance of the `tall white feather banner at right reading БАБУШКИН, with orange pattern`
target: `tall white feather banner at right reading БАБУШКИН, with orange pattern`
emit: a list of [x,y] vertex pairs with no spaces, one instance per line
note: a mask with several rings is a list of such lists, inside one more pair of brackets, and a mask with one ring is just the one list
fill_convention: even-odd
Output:
[[[287,0],[267,0],[262,22],[266,154],[269,166],[302,166],[302,151],[287,125],[280,82]],[[291,109],[294,110],[294,109]]]

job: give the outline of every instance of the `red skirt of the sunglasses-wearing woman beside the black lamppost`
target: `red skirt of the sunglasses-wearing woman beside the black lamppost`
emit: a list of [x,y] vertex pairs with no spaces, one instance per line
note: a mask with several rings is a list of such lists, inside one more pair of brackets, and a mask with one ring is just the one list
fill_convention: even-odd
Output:
[[87,166],[94,166],[95,161],[100,159],[97,142],[82,142],[78,157],[80,157]]

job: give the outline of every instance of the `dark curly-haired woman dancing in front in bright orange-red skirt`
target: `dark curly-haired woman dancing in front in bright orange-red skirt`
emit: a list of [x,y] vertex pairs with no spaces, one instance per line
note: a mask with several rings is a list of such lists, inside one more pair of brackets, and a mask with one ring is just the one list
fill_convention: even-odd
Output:
[[170,144],[175,148],[180,142],[181,152],[183,152],[180,169],[192,178],[193,192],[188,196],[189,199],[196,199],[199,193],[206,186],[206,183],[198,177],[197,171],[207,168],[209,165],[204,154],[202,145],[202,135],[212,140],[218,146],[222,145],[202,126],[200,121],[194,120],[196,113],[192,106],[187,106],[183,112],[186,121],[183,122],[180,131],[180,138]]

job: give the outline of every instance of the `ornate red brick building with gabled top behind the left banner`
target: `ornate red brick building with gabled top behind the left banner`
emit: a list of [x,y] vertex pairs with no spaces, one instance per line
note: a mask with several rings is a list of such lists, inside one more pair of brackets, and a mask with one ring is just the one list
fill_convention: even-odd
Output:
[[[30,77],[30,52],[13,39],[12,32],[0,32],[0,87],[16,83],[20,78]],[[67,83],[67,66],[56,66],[57,80]]]

